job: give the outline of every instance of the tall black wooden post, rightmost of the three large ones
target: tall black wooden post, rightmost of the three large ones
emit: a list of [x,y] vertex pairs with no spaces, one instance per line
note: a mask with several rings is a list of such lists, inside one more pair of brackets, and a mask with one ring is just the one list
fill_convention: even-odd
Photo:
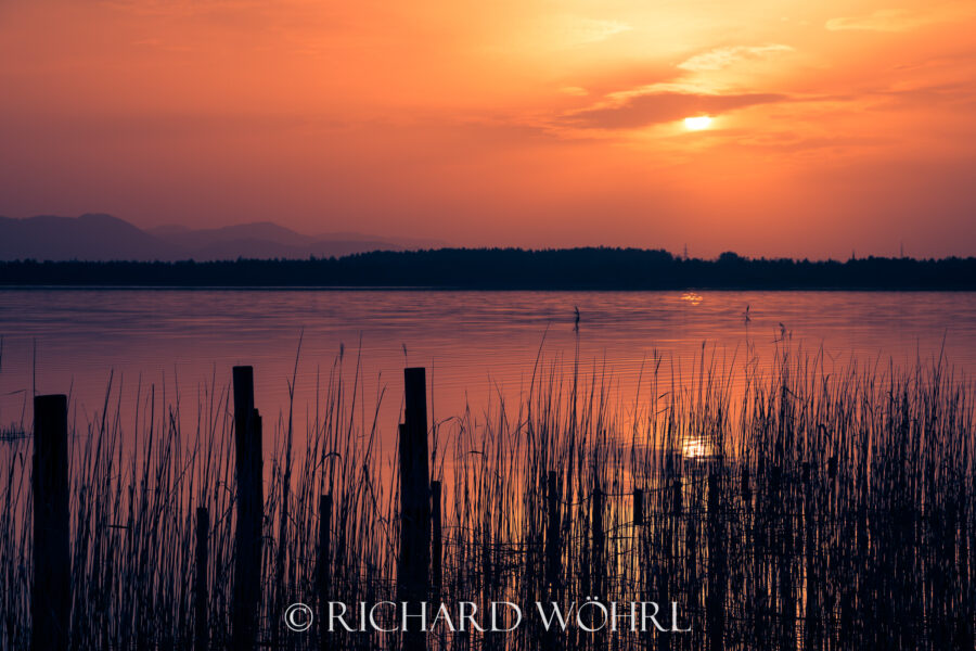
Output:
[[[404,418],[400,426],[400,557],[397,567],[398,600],[420,614],[427,600],[431,574],[431,473],[427,465],[427,381],[423,368],[403,371]],[[412,607],[412,608],[411,608]],[[426,648],[420,618],[406,626],[404,648]]]

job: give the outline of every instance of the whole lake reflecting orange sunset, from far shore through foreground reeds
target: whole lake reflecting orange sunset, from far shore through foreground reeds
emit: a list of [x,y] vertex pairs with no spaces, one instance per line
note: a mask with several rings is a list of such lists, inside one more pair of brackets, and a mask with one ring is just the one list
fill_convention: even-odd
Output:
[[[194,621],[223,648],[237,616],[226,596],[245,575],[260,592],[248,607],[256,635],[318,648],[311,635],[280,636],[295,630],[284,604],[322,603],[312,588],[322,562],[330,598],[350,604],[399,600],[413,585],[407,569],[418,593],[429,578],[446,603],[547,591],[567,602],[667,599],[689,625],[675,649],[956,648],[959,636],[972,639],[976,429],[974,385],[953,383],[976,370],[974,298],[3,291],[0,422],[29,430],[35,387],[70,394],[70,519],[61,526],[72,547],[61,566],[72,569],[80,648],[112,646],[108,637],[126,648],[190,648]],[[798,363],[774,363],[784,352]],[[899,375],[942,356],[954,376]],[[259,481],[248,472],[258,467],[237,465],[220,406],[239,363],[254,366],[264,416]],[[851,363],[857,372],[845,374]],[[394,444],[407,365],[428,369],[438,426],[426,442],[400,441],[413,458],[401,464]],[[548,382],[573,378],[576,365],[583,390],[567,404],[573,383],[553,391]],[[656,384],[645,381],[654,369]],[[766,383],[773,370],[784,374]],[[295,446],[286,448],[293,374]],[[359,378],[356,391],[326,392],[335,374]],[[518,398],[534,374],[542,384],[529,413]],[[704,392],[703,376],[716,383]],[[320,407],[332,409],[322,420]],[[48,525],[35,531],[51,531],[52,509],[35,510],[43,501],[29,487],[54,464],[36,473],[31,444],[0,442],[4,648],[27,646],[29,559],[49,558],[34,556],[27,525],[40,513]],[[412,472],[418,458],[431,460],[426,473]],[[246,509],[245,495],[260,509]],[[431,577],[419,551],[428,534]],[[403,562],[399,542],[410,540],[420,542]],[[211,563],[207,591],[192,587],[195,549]],[[210,596],[194,601],[206,621],[189,608],[201,593]],[[505,648],[540,647],[541,629],[523,633]],[[558,635],[567,648],[611,646]],[[648,639],[626,627],[615,635],[620,648]],[[471,647],[488,639],[499,638],[475,635]],[[400,648],[385,634],[361,640]]]

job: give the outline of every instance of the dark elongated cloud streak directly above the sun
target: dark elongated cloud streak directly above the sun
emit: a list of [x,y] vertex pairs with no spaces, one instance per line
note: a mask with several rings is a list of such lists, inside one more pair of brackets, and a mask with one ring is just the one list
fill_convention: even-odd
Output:
[[690,115],[718,115],[758,104],[791,101],[780,93],[712,94],[673,90],[675,85],[655,85],[635,91],[614,93],[607,101],[563,116],[563,122],[589,129],[637,129],[675,122]]

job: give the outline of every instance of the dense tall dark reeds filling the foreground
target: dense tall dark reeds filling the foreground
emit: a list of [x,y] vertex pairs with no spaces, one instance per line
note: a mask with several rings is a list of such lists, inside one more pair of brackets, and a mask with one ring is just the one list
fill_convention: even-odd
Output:
[[[346,603],[396,599],[396,423],[362,404],[359,366],[344,363],[324,373],[304,423],[292,409],[266,419],[253,569],[264,644],[402,644],[376,631],[323,644],[318,625],[294,633],[281,615],[295,601],[319,613],[323,589]],[[768,366],[727,365],[703,350],[690,373],[648,359],[626,398],[599,367],[562,368],[539,362],[515,404],[498,398],[431,426],[438,599],[676,601],[692,630],[545,636],[527,622],[505,635],[441,630],[428,648],[973,648],[974,385],[942,360],[836,369],[784,345]],[[139,387],[134,422],[119,395],[110,385],[102,412],[76,417],[70,432],[72,647],[190,649],[197,630],[224,648],[236,531],[229,385],[198,391],[192,431],[179,395]],[[21,649],[31,441],[4,441],[0,456],[0,647]],[[198,508],[209,515],[205,554]],[[206,590],[196,558],[208,561]]]

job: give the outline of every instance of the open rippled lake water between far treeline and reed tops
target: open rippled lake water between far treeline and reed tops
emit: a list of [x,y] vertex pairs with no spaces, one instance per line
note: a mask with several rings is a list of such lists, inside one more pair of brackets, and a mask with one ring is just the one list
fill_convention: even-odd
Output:
[[347,374],[361,359],[365,405],[386,388],[386,430],[398,418],[404,365],[428,368],[442,418],[517,395],[540,348],[569,365],[578,346],[583,368],[605,368],[626,393],[655,352],[667,368],[690,371],[704,343],[741,366],[749,337],[769,360],[781,323],[794,345],[823,346],[836,360],[829,363],[853,356],[909,365],[938,355],[945,342],[958,370],[976,371],[973,293],[8,290],[0,291],[0,423],[29,422],[33,386],[70,393],[79,416],[91,417],[113,372],[124,397],[140,381],[167,399],[178,387],[183,417],[195,418],[198,387],[215,379],[226,386],[239,363],[255,367],[257,405],[277,416],[287,407],[303,336],[299,419],[313,408],[317,373],[324,384],[344,349]]

